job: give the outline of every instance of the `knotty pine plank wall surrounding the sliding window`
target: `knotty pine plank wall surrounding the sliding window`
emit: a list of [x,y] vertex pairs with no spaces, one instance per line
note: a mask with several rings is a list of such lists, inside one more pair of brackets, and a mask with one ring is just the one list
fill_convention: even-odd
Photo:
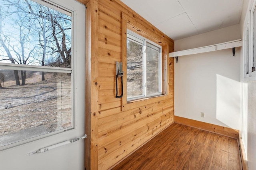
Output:
[[[86,105],[90,104],[86,133],[90,135],[86,139],[85,167],[106,170],[173,123],[174,59],[169,59],[168,53],[173,52],[174,41],[120,0],[90,0],[86,7],[86,22],[90,22],[86,26],[90,38],[86,41],[86,90],[90,90],[86,96]],[[115,98],[115,63],[122,61],[124,53],[122,20],[129,29],[162,45],[163,59],[167,60],[167,95],[132,104]]]

